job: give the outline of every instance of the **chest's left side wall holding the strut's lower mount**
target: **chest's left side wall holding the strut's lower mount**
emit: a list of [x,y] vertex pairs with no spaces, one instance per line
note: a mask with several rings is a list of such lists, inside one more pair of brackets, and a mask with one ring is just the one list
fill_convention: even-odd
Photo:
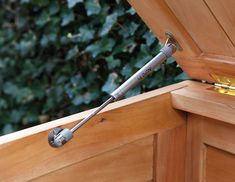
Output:
[[[71,178],[171,181],[169,174],[163,173],[169,169],[181,181],[184,176],[186,114],[172,108],[170,91],[188,83],[111,104],[59,149],[48,145],[48,132],[60,125],[71,127],[91,111],[1,137],[0,171],[4,172],[0,173],[0,178],[4,181],[63,181]],[[128,152],[130,159],[120,159],[119,155]],[[170,162],[168,157],[172,159]],[[107,164],[119,160],[123,167],[120,163]],[[180,167],[174,164],[179,160]],[[136,164],[138,161],[140,165]],[[163,164],[166,162],[168,165]],[[120,175],[123,172],[132,175],[127,178],[127,175]]]

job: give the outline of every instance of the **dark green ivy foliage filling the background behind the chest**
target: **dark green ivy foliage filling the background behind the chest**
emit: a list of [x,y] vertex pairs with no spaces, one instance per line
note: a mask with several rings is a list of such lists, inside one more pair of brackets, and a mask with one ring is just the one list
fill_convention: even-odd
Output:
[[[1,133],[98,106],[160,48],[126,1],[1,0]],[[169,59],[126,97],[182,79]]]

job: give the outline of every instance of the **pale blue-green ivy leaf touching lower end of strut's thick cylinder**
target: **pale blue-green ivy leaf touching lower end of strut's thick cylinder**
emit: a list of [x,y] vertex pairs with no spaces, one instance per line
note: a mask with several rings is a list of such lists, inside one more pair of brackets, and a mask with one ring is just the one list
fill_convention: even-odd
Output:
[[105,84],[102,86],[102,91],[106,93],[113,92],[118,87],[117,78],[118,75],[116,73],[110,73]]

